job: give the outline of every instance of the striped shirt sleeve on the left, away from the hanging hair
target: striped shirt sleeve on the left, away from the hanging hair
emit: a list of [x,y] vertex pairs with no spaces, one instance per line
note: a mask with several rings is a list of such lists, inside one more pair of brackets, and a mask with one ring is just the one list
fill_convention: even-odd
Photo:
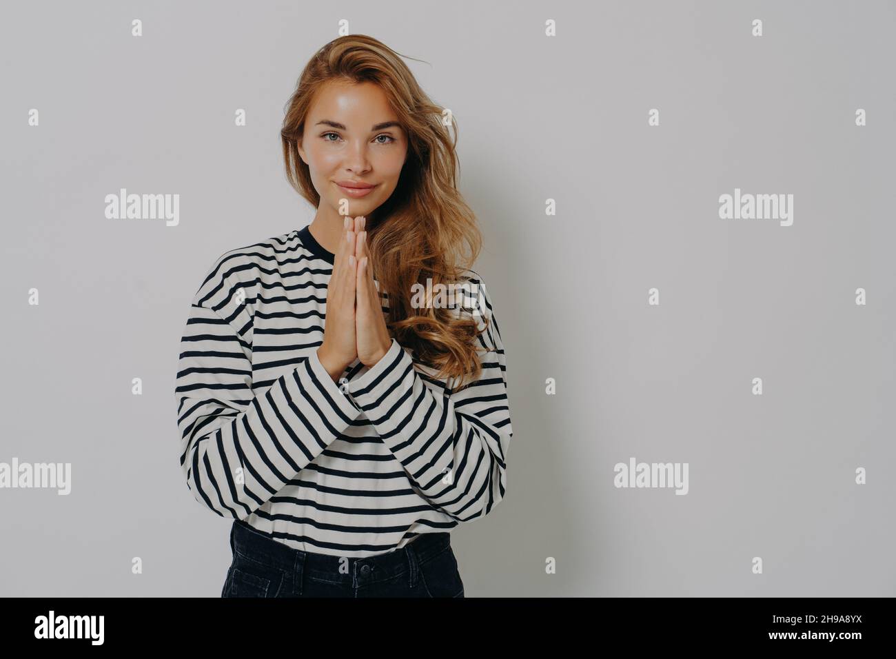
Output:
[[251,320],[243,325],[246,305],[233,295],[238,288],[238,282],[216,288],[215,297],[223,296],[217,309],[203,306],[211,301],[197,304],[203,299],[197,292],[180,343],[175,396],[187,487],[218,515],[244,519],[360,412],[316,350],[254,392]]

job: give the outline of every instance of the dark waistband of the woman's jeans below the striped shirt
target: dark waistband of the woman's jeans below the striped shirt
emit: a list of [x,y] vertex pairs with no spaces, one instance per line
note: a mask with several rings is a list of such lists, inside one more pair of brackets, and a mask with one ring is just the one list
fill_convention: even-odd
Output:
[[243,559],[287,574],[305,574],[333,583],[372,583],[410,571],[414,579],[418,565],[451,546],[451,533],[420,533],[401,549],[361,558],[340,557],[293,549],[274,540],[243,520],[235,520],[230,548]]

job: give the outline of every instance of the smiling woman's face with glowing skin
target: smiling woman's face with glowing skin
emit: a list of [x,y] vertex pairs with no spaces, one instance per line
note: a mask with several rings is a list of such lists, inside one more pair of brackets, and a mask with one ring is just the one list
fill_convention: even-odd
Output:
[[[316,94],[298,152],[321,195],[322,210],[330,206],[335,214],[369,216],[398,186],[408,138],[375,83],[330,81]],[[374,187],[352,191],[340,186],[349,183]]]

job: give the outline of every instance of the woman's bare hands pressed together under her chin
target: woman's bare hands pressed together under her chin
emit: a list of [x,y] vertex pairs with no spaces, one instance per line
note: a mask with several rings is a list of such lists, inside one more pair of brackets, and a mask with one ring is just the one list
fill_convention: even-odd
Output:
[[317,357],[333,381],[354,360],[372,367],[392,347],[383,309],[368,264],[364,217],[345,218],[327,285],[323,343]]

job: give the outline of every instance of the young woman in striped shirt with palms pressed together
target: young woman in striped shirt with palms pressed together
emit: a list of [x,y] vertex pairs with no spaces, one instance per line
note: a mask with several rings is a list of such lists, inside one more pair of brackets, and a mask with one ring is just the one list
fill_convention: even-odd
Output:
[[513,429],[446,116],[376,39],[324,46],[281,131],[314,221],[194,296],[180,462],[235,520],[222,596],[464,594],[449,532],[504,499]]

